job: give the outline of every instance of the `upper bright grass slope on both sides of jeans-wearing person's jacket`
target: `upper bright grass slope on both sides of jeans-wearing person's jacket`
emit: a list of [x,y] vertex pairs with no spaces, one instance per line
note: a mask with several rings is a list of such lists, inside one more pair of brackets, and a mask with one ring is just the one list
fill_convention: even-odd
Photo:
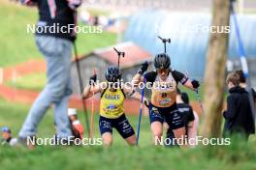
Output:
[[[35,24],[38,18],[36,8],[24,7],[8,0],[0,0],[0,67],[13,66],[31,59],[41,58],[34,42],[34,35],[27,34],[27,24]],[[79,34],[80,54],[98,47],[114,44],[115,34]]]

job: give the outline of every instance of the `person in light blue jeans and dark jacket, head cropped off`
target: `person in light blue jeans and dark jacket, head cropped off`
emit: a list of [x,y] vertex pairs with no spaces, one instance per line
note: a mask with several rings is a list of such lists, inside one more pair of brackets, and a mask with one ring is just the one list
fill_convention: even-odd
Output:
[[[39,21],[35,30],[38,49],[47,62],[47,85],[34,101],[19,131],[21,143],[36,135],[37,127],[48,107],[54,105],[54,122],[59,138],[72,136],[67,115],[72,94],[71,55],[76,39],[77,8],[81,0],[20,0],[22,4],[37,6]],[[28,145],[30,147],[30,145]]]

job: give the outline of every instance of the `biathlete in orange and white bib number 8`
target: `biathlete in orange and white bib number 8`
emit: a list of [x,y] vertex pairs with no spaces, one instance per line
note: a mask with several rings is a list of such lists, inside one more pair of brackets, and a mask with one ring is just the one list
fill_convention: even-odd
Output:
[[[200,84],[198,81],[190,81],[186,75],[179,71],[172,70],[171,59],[168,54],[157,54],[154,58],[156,71],[147,70],[148,64],[145,62],[140,71],[134,76],[133,83],[138,86],[144,78],[151,86],[151,101],[149,103],[149,121],[153,141],[160,141],[163,133],[163,123],[166,122],[169,128],[173,129],[176,138],[185,137],[185,128],[182,115],[176,107],[177,84],[195,90]],[[143,76],[144,74],[144,76]]]

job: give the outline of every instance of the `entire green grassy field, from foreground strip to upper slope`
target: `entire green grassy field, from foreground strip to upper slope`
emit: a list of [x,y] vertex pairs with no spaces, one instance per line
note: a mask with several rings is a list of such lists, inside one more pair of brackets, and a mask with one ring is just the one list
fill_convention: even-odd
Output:
[[[97,12],[98,13],[98,12]],[[38,52],[34,36],[26,34],[26,24],[37,20],[37,10],[22,7],[8,0],[0,0],[0,67],[14,66],[30,59],[42,59]],[[115,43],[116,36],[110,33],[89,34],[78,37],[80,54],[96,47]],[[104,41],[103,41],[104,40]],[[9,81],[9,86],[40,91],[46,83],[45,73],[30,74],[16,79],[16,84]],[[202,90],[204,86],[202,87]],[[181,90],[186,91],[181,88]],[[187,91],[191,100],[195,93]],[[202,91],[201,91],[202,94]],[[17,135],[27,115],[30,105],[14,103],[0,98],[0,127],[12,128]],[[79,112],[84,123],[84,116]],[[94,116],[94,133],[99,137],[99,116]],[[128,116],[137,129],[138,117]],[[38,128],[39,137],[51,137],[54,134],[52,108],[48,110]],[[143,118],[140,147],[128,147],[125,141],[113,131],[113,146],[96,147],[50,147],[40,146],[33,151],[23,147],[10,148],[0,145],[0,170],[56,170],[56,169],[174,169],[174,170],[255,170],[256,138],[248,144],[236,142],[231,146],[199,146],[195,149],[156,147],[151,143],[149,121]]]

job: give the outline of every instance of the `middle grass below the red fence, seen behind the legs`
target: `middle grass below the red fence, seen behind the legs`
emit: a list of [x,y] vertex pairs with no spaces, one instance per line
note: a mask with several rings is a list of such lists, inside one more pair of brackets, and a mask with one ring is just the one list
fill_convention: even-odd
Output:
[[[0,127],[8,126],[13,129],[14,135],[17,135],[18,129],[21,128],[22,123],[27,115],[27,112],[29,111],[29,107],[30,107],[29,105],[12,103],[0,98],[0,113],[1,113]],[[84,113],[80,111],[79,117],[80,117],[80,121],[84,125],[84,120],[85,120]],[[94,115],[94,133],[96,137],[100,136],[100,132],[98,128],[98,119],[99,119],[99,115],[95,114]],[[134,128],[136,128],[138,117],[130,116],[129,121],[131,125]],[[150,142],[149,120],[147,117],[143,118],[141,128],[143,131],[141,136],[142,146],[148,146],[151,144],[151,142]],[[38,128],[38,134],[41,137],[51,137],[54,134],[52,108],[48,110],[47,114],[43,119],[42,124],[40,124]],[[117,131],[113,131],[113,134],[115,135],[114,145],[117,145],[117,146],[126,145],[125,141],[123,141],[123,139],[119,135],[117,135]]]

